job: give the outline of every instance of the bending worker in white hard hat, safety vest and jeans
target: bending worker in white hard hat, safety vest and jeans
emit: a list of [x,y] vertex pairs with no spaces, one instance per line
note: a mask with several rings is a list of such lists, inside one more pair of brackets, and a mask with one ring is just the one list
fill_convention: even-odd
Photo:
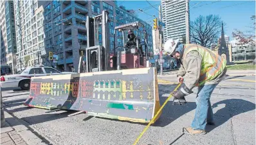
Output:
[[194,87],[198,87],[196,114],[191,126],[183,128],[183,132],[190,135],[205,134],[206,124],[214,125],[210,96],[226,74],[226,60],[206,47],[181,44],[178,39],[167,40],[164,49],[180,61],[178,81],[184,80],[181,87],[172,94],[173,104],[186,105],[185,96],[191,94]]

